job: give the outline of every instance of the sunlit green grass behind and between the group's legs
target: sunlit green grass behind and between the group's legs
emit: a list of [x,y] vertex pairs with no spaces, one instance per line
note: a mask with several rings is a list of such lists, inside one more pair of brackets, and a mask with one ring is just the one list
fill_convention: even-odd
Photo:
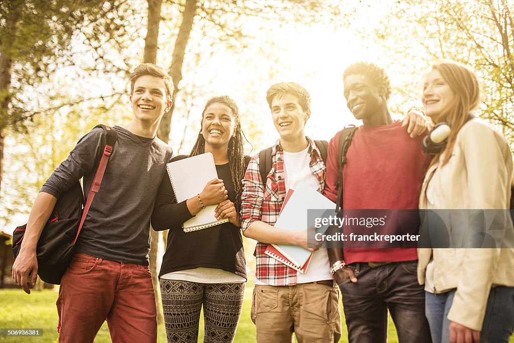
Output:
[[[235,342],[255,342],[255,327],[250,319],[250,307],[252,302],[252,291],[253,284],[247,283],[245,290],[245,300],[243,304],[243,313],[237,327],[235,335]],[[27,295],[21,289],[20,290],[0,290],[0,328],[4,329],[20,329],[20,328],[32,328],[32,329],[43,329],[42,337],[0,337],[0,342],[57,342],[57,289],[56,290],[44,290],[41,292],[32,292]],[[342,308],[342,307],[341,307]],[[341,311],[342,312],[342,311]],[[342,314],[342,313],[341,313]],[[200,334],[198,341],[203,341],[204,329],[200,320]],[[342,320],[343,334],[339,341],[347,342],[346,336],[346,325],[344,324],[344,318]],[[164,325],[158,327],[158,342],[166,342],[166,332],[164,331]],[[98,332],[95,342],[111,342],[111,336],[109,336],[109,330],[107,329],[107,323],[105,322]],[[389,318],[389,339],[388,342],[397,343],[396,330],[394,328],[391,318]],[[510,343],[514,343],[514,335],[510,337]]]

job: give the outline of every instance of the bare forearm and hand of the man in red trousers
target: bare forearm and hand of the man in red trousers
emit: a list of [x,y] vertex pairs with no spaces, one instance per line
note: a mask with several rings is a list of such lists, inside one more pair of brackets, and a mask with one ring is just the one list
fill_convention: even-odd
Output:
[[[44,192],[38,193],[30,211],[20,254],[12,266],[13,279],[27,294],[30,294],[30,288],[34,287],[35,281],[38,279],[36,246],[56,202],[57,198],[53,195]],[[31,273],[30,280],[28,279],[29,273]]]

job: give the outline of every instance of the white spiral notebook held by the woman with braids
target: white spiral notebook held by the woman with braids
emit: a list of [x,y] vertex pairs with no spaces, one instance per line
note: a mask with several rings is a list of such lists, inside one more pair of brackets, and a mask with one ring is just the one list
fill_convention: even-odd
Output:
[[[207,182],[218,177],[211,153],[170,162],[166,165],[166,168],[177,203],[196,196],[204,190]],[[196,216],[183,223],[184,232],[202,230],[228,222],[228,218],[216,220],[215,209],[216,205],[206,206]]]

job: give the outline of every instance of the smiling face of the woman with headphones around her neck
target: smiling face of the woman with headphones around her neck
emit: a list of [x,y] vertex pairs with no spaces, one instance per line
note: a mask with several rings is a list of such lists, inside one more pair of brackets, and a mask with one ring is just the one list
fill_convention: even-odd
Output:
[[427,116],[436,123],[444,121],[441,115],[455,102],[455,98],[454,91],[443,79],[439,70],[433,69],[427,74],[421,95]]

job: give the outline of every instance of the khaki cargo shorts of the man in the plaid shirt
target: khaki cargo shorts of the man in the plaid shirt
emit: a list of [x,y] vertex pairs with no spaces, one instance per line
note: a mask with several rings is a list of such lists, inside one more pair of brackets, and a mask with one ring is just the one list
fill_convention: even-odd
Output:
[[255,285],[251,309],[257,341],[337,342],[341,337],[339,291],[325,284]]

